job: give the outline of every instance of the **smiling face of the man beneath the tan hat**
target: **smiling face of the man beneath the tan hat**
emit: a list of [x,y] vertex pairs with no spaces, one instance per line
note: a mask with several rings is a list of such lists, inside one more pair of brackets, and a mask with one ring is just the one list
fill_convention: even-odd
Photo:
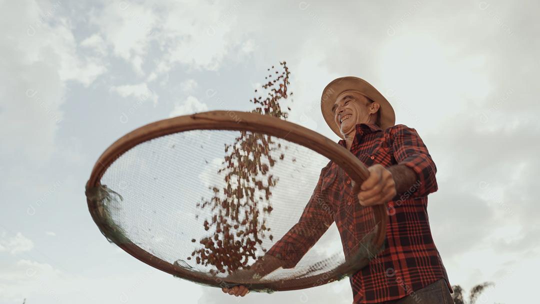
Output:
[[336,98],[332,111],[342,134],[354,131],[357,124],[369,123],[369,105],[367,97],[352,91],[345,91]]

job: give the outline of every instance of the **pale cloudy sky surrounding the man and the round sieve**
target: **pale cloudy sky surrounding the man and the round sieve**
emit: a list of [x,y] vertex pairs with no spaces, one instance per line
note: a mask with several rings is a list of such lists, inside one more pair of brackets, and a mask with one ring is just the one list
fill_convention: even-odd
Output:
[[114,140],[159,119],[251,110],[283,60],[289,121],[338,141],[321,92],[357,76],[419,132],[451,284],[494,282],[478,303],[536,298],[540,3],[0,3],[0,304],[350,303],[347,280],[234,298],[173,278],[107,242],[87,211],[84,185]]

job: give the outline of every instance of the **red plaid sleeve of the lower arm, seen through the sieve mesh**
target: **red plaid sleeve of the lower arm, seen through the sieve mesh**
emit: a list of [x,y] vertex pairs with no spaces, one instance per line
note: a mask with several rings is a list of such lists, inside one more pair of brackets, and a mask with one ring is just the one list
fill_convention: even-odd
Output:
[[322,168],[319,181],[298,222],[266,254],[284,261],[283,268],[293,268],[334,222],[327,194],[321,192],[322,179],[330,163]]

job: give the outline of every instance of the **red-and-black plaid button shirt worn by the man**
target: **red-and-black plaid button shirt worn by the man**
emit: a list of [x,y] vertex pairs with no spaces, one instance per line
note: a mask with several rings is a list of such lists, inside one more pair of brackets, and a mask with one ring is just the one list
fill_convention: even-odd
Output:
[[[346,147],[345,140],[339,144]],[[388,224],[384,250],[369,264],[349,277],[355,303],[379,303],[401,299],[448,276],[435,247],[428,220],[429,193],[437,191],[437,168],[415,129],[396,125],[386,130],[373,124],[357,124],[350,151],[366,166],[384,167],[403,164],[416,172],[417,181],[405,193],[388,202]],[[320,199],[332,206],[321,207]],[[315,187],[298,223],[269,249],[268,254],[284,260],[284,268],[293,268],[303,255],[335,221],[345,256],[353,247],[355,219],[362,218],[351,180],[332,161],[321,170]],[[298,233],[309,231],[309,233]],[[363,235],[365,232],[358,233]]]

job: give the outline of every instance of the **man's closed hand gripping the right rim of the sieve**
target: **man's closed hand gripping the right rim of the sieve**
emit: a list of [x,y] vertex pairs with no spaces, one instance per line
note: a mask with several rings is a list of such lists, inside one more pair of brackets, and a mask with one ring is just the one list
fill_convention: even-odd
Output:
[[380,205],[395,197],[396,183],[392,172],[380,164],[368,168],[369,177],[359,186],[353,182],[353,193],[357,193],[362,206]]

